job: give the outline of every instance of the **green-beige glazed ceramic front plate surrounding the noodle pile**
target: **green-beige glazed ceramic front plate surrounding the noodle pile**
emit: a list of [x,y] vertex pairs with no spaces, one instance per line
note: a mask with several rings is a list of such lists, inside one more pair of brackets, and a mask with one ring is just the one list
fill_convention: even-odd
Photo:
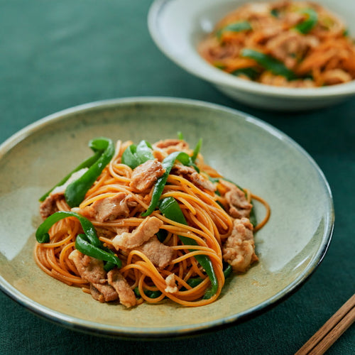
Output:
[[[255,236],[260,261],[226,281],[211,305],[165,300],[126,309],[102,304],[50,278],[33,259],[38,198],[91,155],[90,139],[158,141],[182,131],[203,138],[207,163],[271,205]],[[334,222],[332,196],[305,151],[272,126],[239,111],[183,99],[131,98],[61,111],[0,146],[0,285],[38,315],[66,327],[121,337],[175,337],[234,324],[295,291],[322,260]],[[256,204],[262,219],[263,207]]]

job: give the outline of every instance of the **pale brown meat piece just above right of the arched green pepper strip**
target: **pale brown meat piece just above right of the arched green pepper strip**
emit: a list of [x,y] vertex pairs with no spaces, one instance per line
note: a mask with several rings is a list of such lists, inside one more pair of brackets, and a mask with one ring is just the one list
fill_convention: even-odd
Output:
[[90,206],[84,207],[80,210],[80,214],[99,222],[112,221],[117,217],[129,217],[129,199],[129,195],[118,192],[113,197],[97,200]]

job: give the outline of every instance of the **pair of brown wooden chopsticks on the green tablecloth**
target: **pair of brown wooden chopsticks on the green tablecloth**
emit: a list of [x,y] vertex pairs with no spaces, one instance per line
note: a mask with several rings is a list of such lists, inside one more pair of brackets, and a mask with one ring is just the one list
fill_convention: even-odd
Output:
[[295,355],[322,355],[355,320],[355,294],[308,340]]

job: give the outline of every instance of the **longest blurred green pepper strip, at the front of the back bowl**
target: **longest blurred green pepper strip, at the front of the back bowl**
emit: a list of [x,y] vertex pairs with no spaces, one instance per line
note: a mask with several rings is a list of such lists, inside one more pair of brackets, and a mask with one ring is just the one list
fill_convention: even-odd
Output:
[[244,50],[241,50],[241,56],[255,60],[258,65],[273,72],[275,75],[282,75],[287,80],[296,79],[295,72],[288,69],[283,62],[280,62],[280,60],[277,60],[270,55],[266,55],[250,48],[244,48]]

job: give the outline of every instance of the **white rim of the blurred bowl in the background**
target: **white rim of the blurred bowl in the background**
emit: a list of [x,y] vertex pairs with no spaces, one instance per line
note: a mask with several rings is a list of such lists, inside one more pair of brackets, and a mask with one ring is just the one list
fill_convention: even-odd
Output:
[[[163,13],[165,6],[180,0],[154,0],[148,10],[147,25],[148,31],[155,45],[165,54],[167,58],[175,62],[176,65],[182,67],[184,70],[192,75],[200,77],[217,87],[226,87],[229,90],[239,90],[248,92],[249,94],[260,94],[266,97],[280,97],[289,99],[324,99],[324,98],[340,98],[350,97],[355,95],[355,80],[344,84],[337,84],[328,87],[317,88],[291,88],[291,87],[275,87],[273,85],[260,84],[249,80],[243,80],[234,77],[229,73],[219,70],[213,65],[209,64],[202,57],[201,67],[190,65],[185,56],[176,56],[168,47],[167,41],[164,40],[164,35],[160,31],[160,16]],[[203,0],[200,0],[203,5]],[[174,43],[174,41],[171,41]],[[197,50],[195,51],[197,55]],[[200,56],[200,55],[199,55]]]

